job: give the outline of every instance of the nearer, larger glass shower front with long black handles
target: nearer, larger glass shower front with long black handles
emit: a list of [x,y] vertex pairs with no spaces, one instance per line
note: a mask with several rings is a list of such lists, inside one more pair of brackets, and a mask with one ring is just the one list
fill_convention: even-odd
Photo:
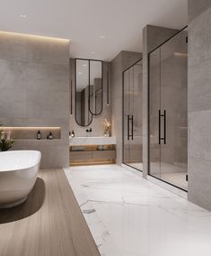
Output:
[[187,190],[187,32],[151,52],[149,63],[150,175]]

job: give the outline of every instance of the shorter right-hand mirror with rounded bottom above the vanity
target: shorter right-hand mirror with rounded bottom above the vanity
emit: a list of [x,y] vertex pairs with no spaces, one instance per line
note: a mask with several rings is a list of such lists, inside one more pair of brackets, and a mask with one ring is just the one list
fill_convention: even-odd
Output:
[[90,102],[89,109],[94,115],[102,111],[102,61],[90,60]]

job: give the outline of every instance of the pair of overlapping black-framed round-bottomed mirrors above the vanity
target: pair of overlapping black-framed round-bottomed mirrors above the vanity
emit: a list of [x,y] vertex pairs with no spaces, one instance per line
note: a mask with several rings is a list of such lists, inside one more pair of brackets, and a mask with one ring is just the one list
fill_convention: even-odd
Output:
[[103,108],[101,60],[75,59],[75,121],[81,126],[92,123],[92,115]]

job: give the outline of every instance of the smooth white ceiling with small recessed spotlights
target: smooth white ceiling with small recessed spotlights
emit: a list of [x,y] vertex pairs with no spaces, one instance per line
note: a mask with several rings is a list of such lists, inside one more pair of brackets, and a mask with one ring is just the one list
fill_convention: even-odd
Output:
[[[141,51],[146,24],[173,29],[185,26],[187,2],[1,0],[0,30],[70,39],[71,57],[110,60],[120,50]],[[21,18],[20,14],[26,17]]]

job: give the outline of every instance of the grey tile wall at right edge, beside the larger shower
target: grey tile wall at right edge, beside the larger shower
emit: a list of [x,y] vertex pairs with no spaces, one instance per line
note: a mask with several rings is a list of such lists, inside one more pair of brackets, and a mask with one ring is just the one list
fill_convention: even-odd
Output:
[[189,1],[189,200],[211,211],[211,2]]

